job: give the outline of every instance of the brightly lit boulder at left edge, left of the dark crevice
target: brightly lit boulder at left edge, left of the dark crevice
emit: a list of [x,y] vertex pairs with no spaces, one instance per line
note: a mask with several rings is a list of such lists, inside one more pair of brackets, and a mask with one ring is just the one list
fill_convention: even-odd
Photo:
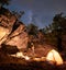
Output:
[[0,45],[7,39],[8,35],[12,31],[12,26],[15,22],[15,16],[10,19],[3,14],[0,14]]

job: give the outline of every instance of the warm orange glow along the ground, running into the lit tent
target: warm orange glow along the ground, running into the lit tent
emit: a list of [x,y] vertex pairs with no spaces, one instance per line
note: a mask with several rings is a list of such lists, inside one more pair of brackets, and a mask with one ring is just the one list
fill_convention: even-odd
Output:
[[16,52],[15,55],[11,55],[11,56],[18,57],[18,58],[24,58],[25,60],[34,60],[34,61],[45,61],[45,60],[47,60],[51,63],[56,63],[57,66],[63,65],[63,59],[62,59],[61,55],[54,49],[52,49],[47,54],[46,57],[41,57],[41,58],[34,57],[34,58],[31,59],[29,56],[24,56],[23,52],[21,52],[21,51]]

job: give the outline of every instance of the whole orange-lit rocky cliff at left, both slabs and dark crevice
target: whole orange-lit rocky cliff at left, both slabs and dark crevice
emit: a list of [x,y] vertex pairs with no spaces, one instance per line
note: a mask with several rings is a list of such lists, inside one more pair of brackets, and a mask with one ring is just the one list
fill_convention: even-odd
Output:
[[20,48],[26,48],[28,33],[25,32],[25,25],[18,21],[15,15],[7,16],[0,14],[0,45],[12,45]]

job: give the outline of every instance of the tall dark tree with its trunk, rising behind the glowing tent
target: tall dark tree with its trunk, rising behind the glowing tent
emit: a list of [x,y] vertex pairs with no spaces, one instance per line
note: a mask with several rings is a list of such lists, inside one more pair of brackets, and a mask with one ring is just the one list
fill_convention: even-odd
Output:
[[62,46],[62,35],[66,34],[66,18],[63,16],[63,13],[56,14],[52,23],[52,32],[54,33],[57,39],[57,48],[59,51],[63,50]]

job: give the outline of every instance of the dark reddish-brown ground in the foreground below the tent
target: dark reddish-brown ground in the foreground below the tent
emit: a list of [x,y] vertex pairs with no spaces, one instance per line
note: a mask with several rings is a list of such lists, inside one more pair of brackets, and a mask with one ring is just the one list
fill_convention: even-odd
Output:
[[0,70],[66,70],[66,63],[56,66],[47,61],[28,61],[0,51]]

